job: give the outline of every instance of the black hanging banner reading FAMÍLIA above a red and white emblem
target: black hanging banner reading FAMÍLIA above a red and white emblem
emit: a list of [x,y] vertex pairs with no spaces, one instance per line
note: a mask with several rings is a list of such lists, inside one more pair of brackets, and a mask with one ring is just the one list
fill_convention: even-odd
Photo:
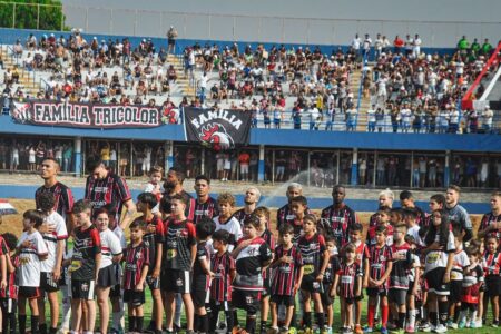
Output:
[[228,109],[184,108],[187,141],[198,141],[215,150],[247,145],[250,135],[250,112]]

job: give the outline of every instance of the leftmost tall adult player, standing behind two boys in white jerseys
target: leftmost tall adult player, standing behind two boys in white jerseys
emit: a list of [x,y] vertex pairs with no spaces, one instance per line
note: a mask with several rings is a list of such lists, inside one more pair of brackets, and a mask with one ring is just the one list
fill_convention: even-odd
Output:
[[73,194],[71,189],[66,185],[57,180],[57,175],[60,170],[59,163],[53,158],[47,158],[41,163],[40,177],[43,179],[43,186],[35,191],[35,202],[37,209],[40,208],[39,196],[43,193],[51,193],[56,198],[56,205],[53,209],[62,216],[66,220],[66,228],[68,233],[75,224],[75,217],[72,215],[73,209]]

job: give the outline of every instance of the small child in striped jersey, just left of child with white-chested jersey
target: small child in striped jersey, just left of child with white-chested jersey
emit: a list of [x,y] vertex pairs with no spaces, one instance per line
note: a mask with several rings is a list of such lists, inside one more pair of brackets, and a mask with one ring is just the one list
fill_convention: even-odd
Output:
[[232,311],[232,282],[235,279],[235,259],[228,252],[232,235],[226,229],[213,234],[213,248],[216,252],[210,259],[210,272],[214,278],[210,284],[210,323],[209,332],[214,333],[219,312],[226,315],[226,326],[233,330],[234,318]]

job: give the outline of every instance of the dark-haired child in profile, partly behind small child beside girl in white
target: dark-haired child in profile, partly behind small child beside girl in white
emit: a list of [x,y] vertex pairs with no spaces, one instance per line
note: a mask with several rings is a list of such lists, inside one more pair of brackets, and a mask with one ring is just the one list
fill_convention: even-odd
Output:
[[149,331],[161,331],[161,317],[164,304],[160,293],[160,269],[164,250],[164,223],[160,217],[153,213],[157,207],[157,198],[151,193],[143,193],[137,197],[137,210],[143,214],[141,219],[146,223],[146,234],[143,242],[148,247],[149,266],[146,283],[149,286],[153,298],[151,322]]

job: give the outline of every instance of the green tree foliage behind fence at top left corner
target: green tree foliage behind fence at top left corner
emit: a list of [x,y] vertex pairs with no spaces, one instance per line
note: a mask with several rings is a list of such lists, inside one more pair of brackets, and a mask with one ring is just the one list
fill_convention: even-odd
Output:
[[0,27],[68,30],[59,0],[1,0]]

